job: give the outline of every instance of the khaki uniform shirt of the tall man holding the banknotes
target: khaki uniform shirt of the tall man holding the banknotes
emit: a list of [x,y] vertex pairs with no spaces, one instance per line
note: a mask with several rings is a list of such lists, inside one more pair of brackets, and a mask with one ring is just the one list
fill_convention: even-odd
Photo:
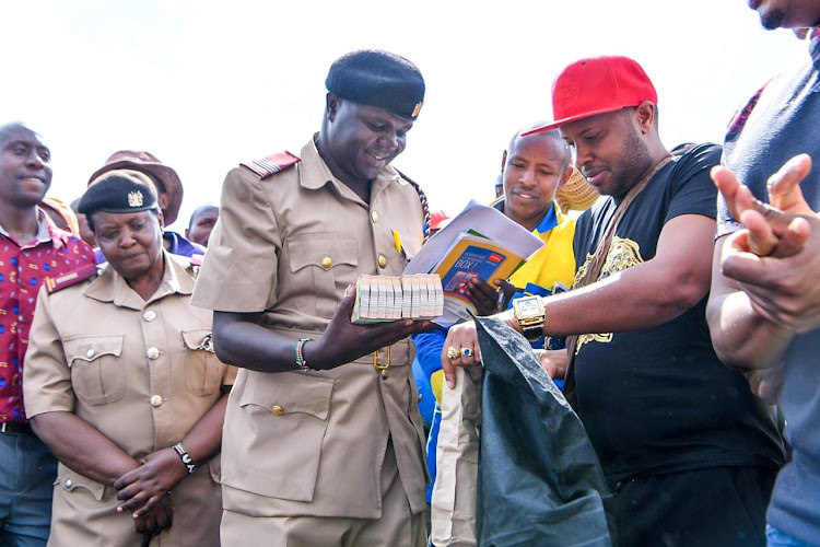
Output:
[[[268,328],[294,341],[321,336],[359,275],[401,275],[423,241],[419,196],[393,167],[373,182],[367,205],[333,177],[313,140],[301,156],[265,179],[244,167],[227,174],[192,298],[211,310],[263,312]],[[410,508],[421,511],[426,472],[413,357],[409,340],[396,344],[385,380],[373,354],[330,371],[241,370],[225,416],[225,509],[378,517],[391,439]],[[384,349],[378,358],[386,362]]]

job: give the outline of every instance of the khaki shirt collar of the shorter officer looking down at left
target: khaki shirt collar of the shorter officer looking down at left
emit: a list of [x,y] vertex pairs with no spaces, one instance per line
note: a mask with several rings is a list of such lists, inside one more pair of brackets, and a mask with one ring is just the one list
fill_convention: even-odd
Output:
[[89,298],[99,302],[113,302],[117,306],[142,310],[147,304],[167,296],[168,294],[190,294],[194,292],[194,276],[187,271],[185,257],[175,259],[167,251],[162,251],[165,259],[165,271],[162,283],[148,302],[133,291],[125,278],[114,268],[106,265],[105,270],[94,279],[83,291]]

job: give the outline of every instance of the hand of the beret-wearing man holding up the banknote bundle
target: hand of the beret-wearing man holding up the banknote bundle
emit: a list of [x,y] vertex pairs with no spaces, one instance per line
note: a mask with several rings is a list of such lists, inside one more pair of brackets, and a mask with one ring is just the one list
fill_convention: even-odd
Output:
[[312,366],[333,369],[403,340],[410,335],[435,328],[430,321],[412,319],[355,325],[350,321],[355,294],[355,287],[348,287],[325,334],[318,340],[305,345],[305,360]]

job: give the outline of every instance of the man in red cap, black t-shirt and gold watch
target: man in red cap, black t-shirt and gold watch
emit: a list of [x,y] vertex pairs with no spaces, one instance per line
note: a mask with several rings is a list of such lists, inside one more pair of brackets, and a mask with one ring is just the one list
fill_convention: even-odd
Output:
[[[704,317],[716,190],[714,144],[671,156],[657,94],[625,57],[582,59],[558,77],[555,121],[578,168],[608,196],[578,219],[573,290],[502,314],[525,336],[567,336],[544,364],[565,377],[614,496],[619,545],[764,545],[783,444],[769,409],[712,348]],[[475,325],[443,357],[480,359]],[[569,361],[567,361],[569,359]]]

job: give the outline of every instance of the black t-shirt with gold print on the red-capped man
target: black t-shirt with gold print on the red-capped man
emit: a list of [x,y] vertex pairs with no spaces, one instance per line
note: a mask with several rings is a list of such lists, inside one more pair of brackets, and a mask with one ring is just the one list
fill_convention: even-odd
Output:
[[[719,160],[718,146],[701,144],[659,170],[621,219],[599,279],[651,260],[669,220],[680,214],[714,219],[716,189],[708,172]],[[585,264],[616,206],[609,198],[578,219],[575,256]],[[783,464],[770,409],[712,348],[705,305],[706,298],[655,328],[578,338],[578,415],[610,481]]]

